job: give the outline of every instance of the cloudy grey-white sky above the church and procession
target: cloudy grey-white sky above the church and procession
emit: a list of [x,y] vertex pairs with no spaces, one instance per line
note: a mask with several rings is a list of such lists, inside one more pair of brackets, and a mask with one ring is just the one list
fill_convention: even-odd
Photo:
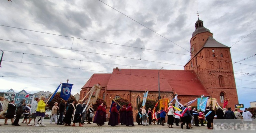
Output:
[[[79,93],[113,68],[184,70],[197,12],[231,47],[239,102],[256,101],[256,1],[1,0],[0,91]],[[235,63],[237,62],[237,63]]]

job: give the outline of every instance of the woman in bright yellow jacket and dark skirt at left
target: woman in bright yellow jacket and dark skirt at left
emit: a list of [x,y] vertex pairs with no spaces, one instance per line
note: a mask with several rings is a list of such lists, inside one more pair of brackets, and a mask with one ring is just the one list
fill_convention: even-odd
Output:
[[[41,117],[41,126],[42,127],[46,127],[46,125],[44,125],[44,116],[45,116],[45,107],[48,106],[48,104],[44,103],[45,97],[44,96],[40,96],[40,101],[38,102],[37,105],[37,112],[35,113],[35,115],[37,116],[35,118],[35,121],[38,121],[39,118]],[[40,127],[38,123],[35,123],[34,127]]]

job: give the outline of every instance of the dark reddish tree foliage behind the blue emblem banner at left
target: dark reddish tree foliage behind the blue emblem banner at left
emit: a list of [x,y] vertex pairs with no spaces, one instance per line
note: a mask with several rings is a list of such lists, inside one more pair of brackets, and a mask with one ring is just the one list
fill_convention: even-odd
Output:
[[[48,103],[48,109],[52,110],[55,102],[58,102],[58,106],[59,106],[59,103],[61,102],[61,100],[62,100],[62,98],[60,98],[60,92],[57,92],[53,96],[53,99]],[[69,99],[67,100],[67,103],[71,103],[71,100],[75,101],[74,105],[77,104],[77,100],[75,99],[75,97],[73,95],[70,95]]]

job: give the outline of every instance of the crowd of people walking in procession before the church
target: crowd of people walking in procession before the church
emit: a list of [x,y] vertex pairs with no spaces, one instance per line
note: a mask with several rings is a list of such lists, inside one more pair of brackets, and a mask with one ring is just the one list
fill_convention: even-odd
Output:
[[[4,98],[0,97],[0,110],[3,109],[3,100]],[[34,127],[45,127],[45,109],[48,104],[46,104],[44,101],[44,96],[40,96],[39,98],[37,97],[31,106],[31,104],[25,103],[25,98],[21,99],[16,104],[14,100],[11,100],[8,104],[8,110],[6,111],[4,125],[8,125],[7,121],[8,119],[11,119],[13,126],[20,126],[19,119],[23,115],[24,118],[21,123],[26,123],[27,126],[32,126],[31,120],[33,119]],[[99,105],[97,110],[94,110],[92,104],[87,106],[87,101],[84,101],[83,103],[82,100],[79,100],[76,106],[74,105],[74,100],[70,100],[69,102],[70,103],[67,104],[67,101],[62,99],[60,104],[58,104],[58,102],[54,103],[51,112],[52,116],[50,124],[53,124],[52,122],[54,120],[55,124],[64,126],[76,127],[75,123],[79,123],[79,127],[83,127],[85,122],[87,122],[87,124],[91,124],[91,122],[93,122],[96,123],[97,126],[103,126],[108,118],[108,114],[106,113],[106,106],[103,105],[103,103]],[[94,114],[94,112],[96,113]],[[65,117],[63,118],[64,113]],[[247,108],[245,108],[242,114],[238,111],[237,108],[234,109],[234,111],[231,111],[231,108],[221,109],[220,107],[217,107],[216,111],[213,110],[213,107],[206,107],[206,110],[202,112],[201,110],[197,111],[196,108],[192,109],[191,106],[184,104],[181,108],[181,111],[179,111],[173,108],[172,103],[169,103],[167,110],[161,108],[161,110],[156,110],[155,112],[151,112],[151,108],[148,108],[148,111],[146,111],[146,107],[143,106],[139,109],[136,120],[138,125],[142,126],[165,126],[166,115],[167,126],[169,128],[174,128],[173,126],[175,124],[177,127],[181,127],[182,129],[183,126],[186,126],[186,129],[191,129],[193,128],[192,126],[200,127],[199,121],[201,122],[201,126],[204,126],[204,120],[207,122],[207,129],[213,129],[213,119],[244,119],[245,121],[252,121],[252,113],[247,111]],[[59,116],[58,120],[57,116]],[[72,117],[73,124],[71,125]],[[128,104],[127,108],[126,105],[124,105],[119,111],[117,110],[117,104],[112,104],[108,125],[117,126],[120,124],[126,126],[135,126],[133,121],[131,103]],[[179,123],[181,124],[179,125]],[[250,128],[250,125],[247,125],[247,127]]]

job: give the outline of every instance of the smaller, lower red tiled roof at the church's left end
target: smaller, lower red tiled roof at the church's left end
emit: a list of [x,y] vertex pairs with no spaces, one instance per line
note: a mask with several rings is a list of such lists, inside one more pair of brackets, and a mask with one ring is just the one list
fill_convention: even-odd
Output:
[[109,82],[111,74],[93,74],[90,79],[85,83],[85,85],[82,87],[87,88],[87,87],[93,87],[94,84],[100,83],[101,87],[106,87],[106,85]]

